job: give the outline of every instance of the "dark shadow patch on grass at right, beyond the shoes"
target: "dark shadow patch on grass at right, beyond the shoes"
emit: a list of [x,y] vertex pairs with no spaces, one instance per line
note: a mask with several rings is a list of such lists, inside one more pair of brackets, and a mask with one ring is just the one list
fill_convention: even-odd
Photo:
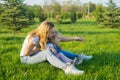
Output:
[[[104,69],[109,69],[109,68],[111,70],[119,69],[118,68],[120,66],[119,63],[120,63],[120,54],[119,53],[104,53],[103,52],[100,54],[93,54],[93,58],[91,60],[83,61],[83,63],[81,65],[79,65],[78,67],[80,69],[85,70],[86,73],[87,72],[98,73],[100,71],[100,69],[103,69],[103,73],[104,73]],[[117,70],[114,70],[114,71],[117,72]],[[112,71],[111,71],[111,73],[112,73]]]

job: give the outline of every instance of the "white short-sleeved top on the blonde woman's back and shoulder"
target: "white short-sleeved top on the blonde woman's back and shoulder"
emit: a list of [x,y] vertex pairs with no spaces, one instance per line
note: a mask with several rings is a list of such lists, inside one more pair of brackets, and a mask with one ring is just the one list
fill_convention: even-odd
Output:
[[[24,56],[24,50],[25,48],[27,47],[28,45],[28,38],[29,38],[30,35],[28,35],[25,40],[24,40],[24,43],[22,45],[22,49],[21,49],[21,52],[20,52],[20,56]],[[32,42],[33,44],[35,44],[36,47],[39,47],[39,37],[33,37],[32,38]]]

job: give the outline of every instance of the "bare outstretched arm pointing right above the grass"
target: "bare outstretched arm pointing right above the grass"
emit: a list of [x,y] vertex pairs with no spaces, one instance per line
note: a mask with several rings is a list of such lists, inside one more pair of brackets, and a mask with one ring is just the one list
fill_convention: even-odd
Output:
[[67,41],[83,41],[83,37],[67,37],[67,36],[59,36],[58,37],[61,42],[67,42]]

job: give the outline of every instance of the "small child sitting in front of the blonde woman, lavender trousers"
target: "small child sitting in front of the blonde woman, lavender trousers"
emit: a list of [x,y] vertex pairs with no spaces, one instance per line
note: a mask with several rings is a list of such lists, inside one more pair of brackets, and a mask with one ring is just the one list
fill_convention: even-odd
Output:
[[47,44],[47,48],[50,49],[51,54],[54,54],[57,58],[59,58],[61,61],[65,62],[67,65],[74,64],[76,59],[72,60],[72,59],[66,57],[61,52],[61,47],[58,44],[58,42],[59,42],[58,35],[59,35],[59,33],[57,31],[55,31],[52,41],[49,41]]

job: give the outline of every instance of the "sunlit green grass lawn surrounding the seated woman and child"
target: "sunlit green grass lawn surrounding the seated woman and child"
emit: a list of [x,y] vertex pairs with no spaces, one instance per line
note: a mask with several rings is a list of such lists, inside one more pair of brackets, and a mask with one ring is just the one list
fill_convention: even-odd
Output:
[[0,26],[0,80],[120,80],[120,28],[97,25],[94,19],[81,19],[75,24],[56,24],[64,36],[83,36],[84,42],[60,43],[64,50],[93,55],[90,61],[76,66],[85,74],[74,76],[47,62],[22,64],[19,53],[27,33],[39,24],[22,29],[16,35]]

